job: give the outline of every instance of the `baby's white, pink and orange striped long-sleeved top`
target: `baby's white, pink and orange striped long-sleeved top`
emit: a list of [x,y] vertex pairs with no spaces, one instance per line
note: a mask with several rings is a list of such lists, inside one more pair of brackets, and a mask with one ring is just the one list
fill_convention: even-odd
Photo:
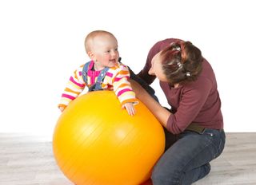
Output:
[[[70,101],[77,98],[86,87],[89,88],[97,81],[98,75],[101,73],[101,71],[92,70],[94,61],[90,62],[88,68],[87,84],[82,78],[83,66],[84,65],[81,65],[78,69],[76,69],[73,75],[70,77],[70,80],[62,93],[62,98],[60,100],[60,104],[58,104],[58,107],[66,108],[66,106],[70,104]],[[118,96],[118,100],[122,105],[128,102],[138,104],[138,100],[135,99],[135,93],[131,89],[130,82],[128,81],[129,78],[129,69],[126,67],[126,65],[118,62],[117,65],[110,68],[106,72],[106,77],[102,81],[102,89],[113,90],[116,96]]]

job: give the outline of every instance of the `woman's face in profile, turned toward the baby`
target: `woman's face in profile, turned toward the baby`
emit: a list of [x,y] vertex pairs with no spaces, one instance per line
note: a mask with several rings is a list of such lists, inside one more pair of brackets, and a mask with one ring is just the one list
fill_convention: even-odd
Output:
[[148,72],[150,75],[156,76],[159,81],[167,81],[166,75],[163,73],[162,69],[162,57],[161,51],[158,52],[151,61],[151,68]]

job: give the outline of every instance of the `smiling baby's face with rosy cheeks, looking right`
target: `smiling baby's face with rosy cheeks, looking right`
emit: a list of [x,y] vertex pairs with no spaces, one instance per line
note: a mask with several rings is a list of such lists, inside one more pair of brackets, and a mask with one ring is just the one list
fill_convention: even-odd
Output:
[[115,37],[107,34],[95,37],[92,52],[95,65],[98,65],[98,68],[114,67],[119,58],[118,41]]

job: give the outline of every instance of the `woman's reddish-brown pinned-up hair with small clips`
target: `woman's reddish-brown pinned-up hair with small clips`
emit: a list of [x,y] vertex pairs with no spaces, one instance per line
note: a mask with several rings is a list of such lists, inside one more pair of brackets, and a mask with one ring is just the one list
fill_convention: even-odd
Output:
[[202,71],[202,53],[190,41],[171,43],[161,52],[162,69],[170,85],[195,81]]

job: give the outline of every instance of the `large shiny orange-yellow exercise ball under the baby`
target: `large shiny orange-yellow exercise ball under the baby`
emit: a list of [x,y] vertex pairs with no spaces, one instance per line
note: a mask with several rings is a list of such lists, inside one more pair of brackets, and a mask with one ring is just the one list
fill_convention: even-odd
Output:
[[77,185],[138,185],[162,155],[162,125],[142,102],[129,116],[112,91],[86,93],[62,112],[54,130],[58,166]]

